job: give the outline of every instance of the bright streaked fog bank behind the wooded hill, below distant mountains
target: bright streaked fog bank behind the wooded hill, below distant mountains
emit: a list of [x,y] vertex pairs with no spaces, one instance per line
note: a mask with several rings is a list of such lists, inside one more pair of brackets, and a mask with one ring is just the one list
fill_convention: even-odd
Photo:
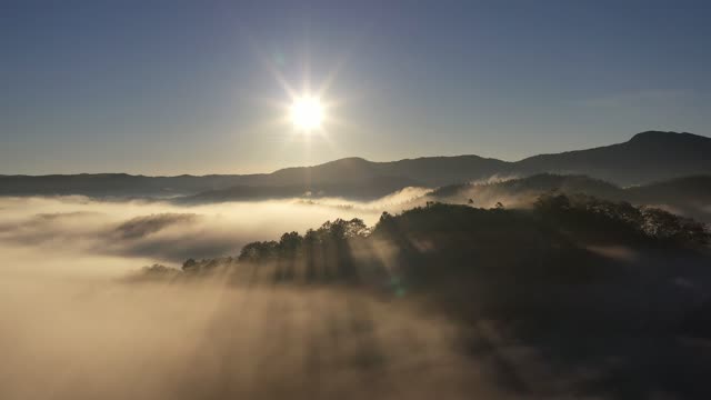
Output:
[[[374,223],[423,189],[373,201],[288,199],[183,207],[84,197],[0,198],[0,253],[19,272],[117,273],[188,258],[234,256],[242,244],[336,218]],[[7,271],[6,271],[7,272]]]

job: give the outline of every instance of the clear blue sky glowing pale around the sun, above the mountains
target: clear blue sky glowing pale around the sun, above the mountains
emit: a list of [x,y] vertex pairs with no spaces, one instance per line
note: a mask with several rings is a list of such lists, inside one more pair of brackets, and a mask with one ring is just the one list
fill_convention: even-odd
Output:
[[[2,1],[0,173],[517,160],[711,133],[710,1]],[[323,132],[284,123],[328,88]]]

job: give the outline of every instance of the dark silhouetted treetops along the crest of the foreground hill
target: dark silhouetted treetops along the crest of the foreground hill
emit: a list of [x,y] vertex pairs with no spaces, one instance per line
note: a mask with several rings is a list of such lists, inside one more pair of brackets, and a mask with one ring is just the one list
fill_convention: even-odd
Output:
[[[538,198],[534,209],[530,212],[530,216],[525,216],[527,211],[505,210],[501,203],[497,203],[492,209],[479,209],[428,202],[424,207],[407,210],[399,216],[383,212],[372,229],[360,219],[338,219],[333,222],[328,221],[316,230],[309,229],[304,236],[287,232],[279,241],[251,242],[242,248],[239,261],[291,259],[308,256],[318,248],[339,248],[348,241],[371,236],[393,239],[394,231],[407,232],[408,229],[414,229],[414,220],[422,224],[424,221],[421,221],[420,217],[423,214],[427,216],[427,223],[418,226],[417,231],[421,233],[431,230],[432,236],[452,230],[462,234],[482,230],[483,233],[493,233],[502,228],[513,231],[521,228],[521,217],[532,217],[529,222],[542,222],[549,228],[570,232],[573,234],[571,239],[580,240],[699,247],[708,244],[711,238],[708,227],[693,219],[658,208],[635,207],[624,201],[614,202],[584,194],[543,194]],[[492,221],[491,218],[497,221]],[[470,224],[462,226],[462,222]]]

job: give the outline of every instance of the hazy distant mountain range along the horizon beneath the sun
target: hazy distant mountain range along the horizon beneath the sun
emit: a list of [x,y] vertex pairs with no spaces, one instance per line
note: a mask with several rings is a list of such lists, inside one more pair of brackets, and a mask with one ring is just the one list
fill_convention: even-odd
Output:
[[648,131],[623,143],[534,156],[517,162],[478,156],[425,157],[389,162],[346,158],[313,167],[244,176],[0,176],[0,196],[187,196],[196,201],[228,201],[311,192],[313,196],[372,199],[410,186],[442,187],[492,176],[543,172],[584,174],[630,186],[683,176],[711,174],[709,154],[711,139],[707,137]]

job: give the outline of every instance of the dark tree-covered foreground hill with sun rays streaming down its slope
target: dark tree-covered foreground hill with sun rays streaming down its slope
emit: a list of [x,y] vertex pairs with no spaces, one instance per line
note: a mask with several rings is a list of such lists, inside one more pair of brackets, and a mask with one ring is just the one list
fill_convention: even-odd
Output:
[[[514,398],[701,399],[711,396],[708,240],[693,221],[590,198],[543,197],[528,211],[430,203],[383,214],[373,229],[329,221],[250,243],[238,258],[156,266],[143,279],[219,276],[251,290],[328,287],[424,303],[458,321],[460,353],[495,366],[494,381]],[[332,318],[314,310],[306,312]],[[333,333],[339,346],[377,331],[361,322]],[[368,349],[365,371],[397,363]]]

